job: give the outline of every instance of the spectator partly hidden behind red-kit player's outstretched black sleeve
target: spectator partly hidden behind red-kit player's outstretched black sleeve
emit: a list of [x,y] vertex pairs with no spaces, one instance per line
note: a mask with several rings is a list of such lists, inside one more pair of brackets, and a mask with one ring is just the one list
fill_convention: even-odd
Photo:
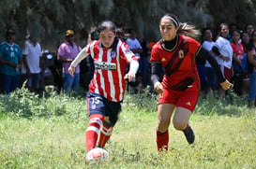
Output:
[[[203,49],[210,51],[215,45],[215,42],[213,41],[213,34],[211,29],[204,28],[202,31],[202,35],[203,35],[202,47]],[[205,61],[204,67],[205,67],[205,76],[207,81],[206,92],[210,92],[210,91],[214,92],[216,91],[217,85],[218,85],[216,74],[211,64],[208,61]]]

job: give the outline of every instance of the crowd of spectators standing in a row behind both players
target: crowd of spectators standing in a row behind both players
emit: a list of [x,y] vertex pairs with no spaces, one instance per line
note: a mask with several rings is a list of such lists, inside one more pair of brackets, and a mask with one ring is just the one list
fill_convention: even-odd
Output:
[[[75,43],[75,33],[67,30],[64,34],[65,41],[56,49],[56,60],[62,63],[62,90],[63,92],[77,91],[79,87],[88,90],[90,79],[94,71],[91,57],[84,60],[76,70],[75,77],[68,75],[68,65],[74,60],[78,52],[86,45]],[[140,67],[136,80],[128,82],[128,90],[133,93],[143,92],[151,85],[150,81],[150,52],[157,39],[148,40],[143,35],[137,34],[134,29],[118,28],[116,36],[140,58]],[[27,35],[24,48],[15,42],[15,33],[8,29],[6,40],[0,46],[0,90],[8,94],[17,88],[25,86],[30,92],[38,92],[40,86],[42,48],[37,34]],[[86,37],[87,38],[87,37]],[[87,43],[98,39],[97,31],[88,35]],[[222,23],[218,33],[213,29],[203,28],[201,44],[216,58],[223,75],[233,82],[233,92],[238,96],[248,99],[249,106],[255,106],[256,95],[256,31],[254,26],[248,24],[243,29],[237,24]],[[209,63],[198,58],[197,68],[201,79],[203,96],[209,92],[218,91],[222,98],[228,94],[219,88],[215,72]],[[86,72],[86,73],[85,73]],[[163,72],[164,74],[164,72]],[[82,82],[83,81],[83,82]],[[25,85],[24,85],[25,82]],[[151,88],[152,89],[152,88]],[[152,90],[153,91],[153,90]]]

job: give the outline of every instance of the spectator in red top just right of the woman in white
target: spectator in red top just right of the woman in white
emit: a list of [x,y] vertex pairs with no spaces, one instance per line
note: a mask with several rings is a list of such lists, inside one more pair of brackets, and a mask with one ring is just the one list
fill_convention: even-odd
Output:
[[244,70],[241,66],[244,58],[244,48],[241,41],[240,30],[234,29],[232,33],[231,46],[233,48],[233,87],[237,95],[242,95]]

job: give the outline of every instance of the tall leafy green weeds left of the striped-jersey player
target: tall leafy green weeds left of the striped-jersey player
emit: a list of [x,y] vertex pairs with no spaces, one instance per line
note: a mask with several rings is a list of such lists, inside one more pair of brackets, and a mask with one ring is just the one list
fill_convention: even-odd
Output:
[[79,120],[81,114],[86,111],[83,98],[74,98],[63,93],[59,95],[56,92],[51,93],[50,96],[39,96],[23,88],[10,95],[0,95],[0,99],[2,112],[26,119],[64,116],[67,120]]

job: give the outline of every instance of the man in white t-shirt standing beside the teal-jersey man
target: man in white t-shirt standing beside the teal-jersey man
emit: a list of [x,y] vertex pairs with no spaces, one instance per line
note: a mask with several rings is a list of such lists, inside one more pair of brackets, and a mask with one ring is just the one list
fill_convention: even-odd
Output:
[[[22,75],[27,79],[26,87],[30,92],[38,92],[42,67],[41,46],[37,36],[28,35],[23,49]],[[23,77],[22,77],[23,78]],[[23,83],[23,80],[21,80]]]

